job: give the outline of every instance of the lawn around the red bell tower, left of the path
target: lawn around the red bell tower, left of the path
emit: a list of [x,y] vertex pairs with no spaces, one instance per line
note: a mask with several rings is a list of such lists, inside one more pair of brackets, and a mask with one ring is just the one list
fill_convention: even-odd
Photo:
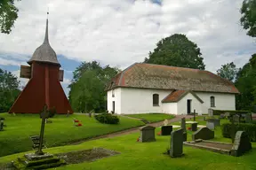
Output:
[[[41,119],[39,114],[1,113],[4,117],[4,131],[0,132],[0,157],[32,150],[32,142],[29,135],[39,135]],[[82,127],[73,126],[73,119],[82,121]],[[51,124],[45,124],[44,140],[47,147],[60,146],[78,142],[97,135],[105,135],[111,132],[143,126],[140,120],[119,117],[119,125],[101,124],[93,117],[85,115],[55,115]],[[0,158],[1,159],[1,158]]]

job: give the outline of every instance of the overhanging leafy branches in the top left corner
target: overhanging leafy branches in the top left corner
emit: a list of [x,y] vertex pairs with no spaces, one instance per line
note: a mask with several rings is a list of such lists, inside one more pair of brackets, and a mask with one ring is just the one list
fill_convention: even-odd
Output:
[[[20,1],[20,0],[17,0]],[[15,20],[18,18],[18,8],[14,5],[14,0],[0,1],[0,28],[1,33],[10,34]]]

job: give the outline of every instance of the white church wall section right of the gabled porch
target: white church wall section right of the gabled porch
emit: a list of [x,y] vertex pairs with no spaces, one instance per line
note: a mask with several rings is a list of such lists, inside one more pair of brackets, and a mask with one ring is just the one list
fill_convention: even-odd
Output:
[[[207,113],[209,108],[213,110],[236,110],[235,94],[196,92],[196,95],[204,101],[202,108],[203,113]],[[210,97],[215,98],[215,107],[211,107]]]

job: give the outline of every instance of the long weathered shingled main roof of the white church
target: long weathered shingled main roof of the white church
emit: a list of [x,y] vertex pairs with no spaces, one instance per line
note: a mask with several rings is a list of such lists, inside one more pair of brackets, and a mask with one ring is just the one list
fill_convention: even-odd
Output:
[[106,90],[118,87],[239,93],[231,81],[208,71],[145,63],[135,63],[116,74]]

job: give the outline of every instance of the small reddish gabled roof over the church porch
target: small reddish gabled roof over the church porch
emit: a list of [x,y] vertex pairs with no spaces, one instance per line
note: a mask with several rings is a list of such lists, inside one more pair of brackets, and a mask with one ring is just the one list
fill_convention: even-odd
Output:
[[172,103],[172,102],[176,103],[176,102],[179,102],[180,99],[185,97],[188,93],[191,93],[191,95],[196,97],[196,99],[200,103],[202,103],[202,104],[204,103],[204,101],[200,97],[198,97],[196,95],[196,93],[194,93],[193,91],[188,91],[188,90],[174,90],[167,97],[164,97],[164,99],[162,100],[162,103]]

